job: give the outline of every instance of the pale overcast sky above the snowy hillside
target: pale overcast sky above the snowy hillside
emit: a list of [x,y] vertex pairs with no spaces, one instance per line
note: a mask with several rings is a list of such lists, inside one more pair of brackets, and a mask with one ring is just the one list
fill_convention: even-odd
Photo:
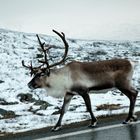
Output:
[[140,40],[140,0],[0,0],[0,28],[50,35],[56,29],[81,39]]

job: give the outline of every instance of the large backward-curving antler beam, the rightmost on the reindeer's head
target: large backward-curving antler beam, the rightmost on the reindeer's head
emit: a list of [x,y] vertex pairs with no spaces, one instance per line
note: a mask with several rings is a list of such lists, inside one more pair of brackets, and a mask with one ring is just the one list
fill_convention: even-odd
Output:
[[64,55],[63,55],[63,57],[62,57],[62,60],[60,60],[59,62],[57,62],[57,63],[54,63],[54,64],[52,64],[52,65],[50,65],[49,67],[51,68],[51,67],[54,67],[54,66],[57,66],[57,65],[59,65],[59,64],[61,64],[61,63],[63,63],[63,62],[65,62],[65,60],[66,60],[66,56],[67,56],[67,54],[68,54],[68,48],[69,48],[69,45],[68,45],[68,43],[67,43],[67,41],[66,41],[66,39],[65,39],[65,34],[63,33],[63,32],[61,32],[61,33],[59,33],[59,32],[57,32],[56,30],[52,30],[54,33],[56,33],[61,39],[62,39],[62,41],[63,41],[63,43],[64,43],[64,45],[65,45],[65,52],[64,52]]

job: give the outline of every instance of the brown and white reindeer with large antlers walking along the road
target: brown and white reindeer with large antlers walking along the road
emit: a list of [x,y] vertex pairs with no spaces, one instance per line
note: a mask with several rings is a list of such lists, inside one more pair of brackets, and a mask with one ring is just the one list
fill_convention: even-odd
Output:
[[48,50],[45,43],[42,43],[37,35],[39,44],[44,53],[44,60],[38,60],[41,65],[33,67],[27,66],[22,61],[22,65],[31,70],[33,79],[28,83],[29,88],[45,88],[48,95],[53,97],[64,97],[61,113],[58,122],[53,127],[53,131],[61,128],[62,118],[67,111],[69,103],[74,95],[80,95],[85,101],[88,112],[91,116],[90,127],[94,127],[97,119],[92,112],[89,93],[91,90],[100,91],[104,89],[116,88],[125,94],[130,100],[128,117],[124,124],[136,121],[134,106],[138,91],[132,87],[133,63],[126,59],[113,59],[95,62],[72,61],[61,68],[56,66],[64,63],[68,54],[69,45],[64,33],[53,30],[63,41],[65,53],[59,62],[49,64]]

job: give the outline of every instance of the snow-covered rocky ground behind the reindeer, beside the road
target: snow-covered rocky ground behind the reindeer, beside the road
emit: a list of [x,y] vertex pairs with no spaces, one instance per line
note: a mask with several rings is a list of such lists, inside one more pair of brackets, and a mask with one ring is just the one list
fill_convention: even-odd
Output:
[[[54,58],[53,61],[57,61],[63,54],[63,43],[57,36],[40,35],[40,37],[46,44],[56,46],[55,49],[51,49],[50,55]],[[67,40],[70,46],[68,61],[112,58],[140,61],[140,41]],[[0,131],[2,133],[54,126],[57,122],[59,114],[55,112],[61,108],[63,99],[49,97],[45,90],[30,90],[27,87],[31,79],[29,71],[21,65],[22,60],[26,63],[32,60],[33,64],[37,65],[38,48],[35,34],[0,29]],[[135,67],[133,83],[140,91],[140,64]],[[32,97],[24,100],[24,95]],[[129,100],[117,90],[90,96],[92,109],[97,117],[128,112]],[[108,108],[105,108],[105,105]],[[135,111],[140,111],[139,96]],[[69,124],[89,118],[83,99],[75,96],[62,123]]]

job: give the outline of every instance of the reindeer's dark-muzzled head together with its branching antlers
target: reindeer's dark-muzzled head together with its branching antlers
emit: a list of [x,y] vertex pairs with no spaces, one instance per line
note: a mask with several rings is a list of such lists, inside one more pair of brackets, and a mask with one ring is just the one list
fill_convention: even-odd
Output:
[[46,48],[45,47],[45,42],[42,43],[38,35],[36,35],[36,36],[37,36],[38,42],[40,44],[41,50],[44,54],[44,60],[38,60],[38,62],[41,63],[41,65],[38,66],[38,67],[33,67],[32,62],[31,62],[31,64],[29,66],[27,66],[27,65],[24,64],[24,60],[22,60],[22,65],[25,68],[28,68],[30,70],[31,76],[33,76],[33,79],[28,83],[28,86],[31,89],[36,89],[36,88],[42,88],[42,87],[49,86],[49,83],[47,83],[47,78],[50,77],[51,68],[64,63],[65,60],[66,60],[69,45],[68,45],[68,43],[65,39],[65,34],[64,33],[59,33],[55,30],[53,30],[53,32],[56,33],[62,39],[62,41],[64,43],[64,46],[65,46],[65,53],[64,53],[62,59],[59,62],[56,62],[56,63],[51,64],[51,65],[49,64],[47,56],[48,56],[48,51],[49,51],[50,47]]

